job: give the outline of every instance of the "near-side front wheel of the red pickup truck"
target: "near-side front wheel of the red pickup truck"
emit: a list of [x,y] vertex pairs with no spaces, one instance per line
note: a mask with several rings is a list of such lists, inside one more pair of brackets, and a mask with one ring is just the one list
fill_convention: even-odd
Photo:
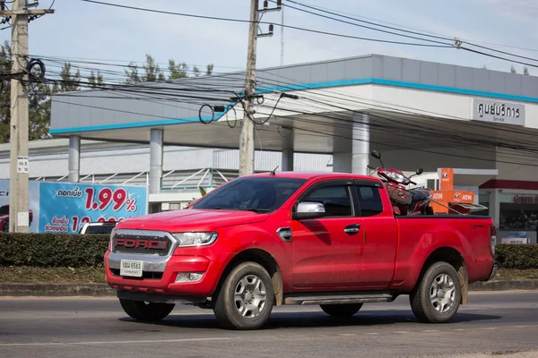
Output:
[[[249,311],[247,309],[247,304],[243,304],[245,303],[244,301],[239,301],[238,303],[234,298],[236,289],[241,291],[241,286],[244,286],[243,284],[245,282],[255,282],[253,277],[259,278],[265,288],[262,291],[265,292],[265,303],[260,301],[259,304],[256,305],[256,296],[253,296],[252,294],[249,296],[241,294],[241,296],[245,297],[244,300],[248,301],[248,299],[250,299],[250,302],[254,300],[254,306],[260,310],[256,316],[254,315],[255,311]],[[244,281],[244,279],[247,281]],[[239,282],[241,282],[241,285],[239,285]],[[248,292],[250,288],[250,286],[244,286],[243,292]],[[256,289],[253,291],[255,291],[254,293],[256,294]],[[233,268],[228,277],[224,280],[219,293],[217,294],[213,311],[217,320],[219,320],[219,323],[221,323],[221,326],[224,328],[257,329],[262,327],[269,319],[271,311],[273,311],[273,303],[273,281],[265,268],[256,262],[243,262]],[[261,307],[261,309],[259,307]],[[242,308],[245,311],[245,315],[239,312]],[[250,312],[250,314],[248,314],[248,312]]]

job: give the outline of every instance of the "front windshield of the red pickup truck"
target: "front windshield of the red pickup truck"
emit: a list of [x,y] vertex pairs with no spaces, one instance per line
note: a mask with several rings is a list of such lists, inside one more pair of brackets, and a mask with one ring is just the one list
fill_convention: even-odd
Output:
[[295,178],[239,178],[208,193],[193,208],[270,212],[279,209],[304,183],[306,180]]

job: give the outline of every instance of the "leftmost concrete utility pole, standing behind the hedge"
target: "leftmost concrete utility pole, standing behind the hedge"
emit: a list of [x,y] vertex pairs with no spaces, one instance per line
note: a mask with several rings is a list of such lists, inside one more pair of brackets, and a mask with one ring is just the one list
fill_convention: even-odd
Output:
[[23,81],[28,83],[28,17],[54,13],[54,10],[29,10],[37,2],[13,0],[11,10],[0,12],[0,16],[11,16],[12,21],[12,80],[11,80],[11,125],[10,125],[10,176],[9,176],[9,231],[28,233],[28,94]]

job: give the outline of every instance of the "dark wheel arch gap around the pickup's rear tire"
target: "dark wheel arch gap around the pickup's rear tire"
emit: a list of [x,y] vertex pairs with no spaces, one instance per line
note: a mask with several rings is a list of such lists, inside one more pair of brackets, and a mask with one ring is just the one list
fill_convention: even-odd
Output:
[[449,246],[439,247],[430,253],[428,258],[422,264],[421,273],[419,274],[419,277],[414,286],[414,289],[416,289],[420,285],[422,277],[424,277],[428,268],[430,268],[430,266],[433,265],[434,263],[440,262],[440,261],[447,262],[448,264],[452,265],[453,268],[456,269],[460,278],[460,284],[462,286],[460,304],[467,303],[467,295],[469,291],[469,278],[467,274],[467,265],[465,263],[464,256],[461,254],[461,252],[457,251],[453,247],[449,247]]

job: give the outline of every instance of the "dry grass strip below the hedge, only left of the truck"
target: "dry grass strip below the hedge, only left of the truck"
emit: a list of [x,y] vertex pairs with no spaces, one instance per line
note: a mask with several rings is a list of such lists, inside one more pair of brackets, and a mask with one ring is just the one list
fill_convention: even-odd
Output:
[[0,283],[101,284],[105,283],[105,268],[0,267]]

